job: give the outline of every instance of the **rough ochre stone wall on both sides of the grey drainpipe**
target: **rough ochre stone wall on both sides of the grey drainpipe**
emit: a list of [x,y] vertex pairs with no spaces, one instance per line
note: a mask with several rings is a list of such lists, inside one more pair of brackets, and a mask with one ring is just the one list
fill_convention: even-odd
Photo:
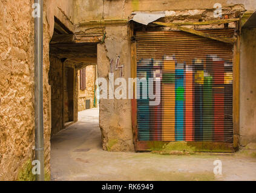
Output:
[[[34,180],[33,1],[0,1],[0,180]],[[54,16],[73,31],[73,1],[44,1],[45,179],[50,179],[49,43]]]

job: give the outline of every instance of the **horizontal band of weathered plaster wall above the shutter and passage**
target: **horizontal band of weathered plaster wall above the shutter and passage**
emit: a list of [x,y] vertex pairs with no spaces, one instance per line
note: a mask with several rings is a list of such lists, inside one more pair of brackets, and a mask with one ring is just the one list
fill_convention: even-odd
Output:
[[217,2],[222,7],[243,4],[248,10],[256,9],[254,0],[74,0],[74,24],[96,19],[127,19],[133,11],[213,9]]

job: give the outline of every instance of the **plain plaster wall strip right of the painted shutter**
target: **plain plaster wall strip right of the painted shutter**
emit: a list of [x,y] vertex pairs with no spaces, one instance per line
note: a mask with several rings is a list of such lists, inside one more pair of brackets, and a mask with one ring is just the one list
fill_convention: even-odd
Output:
[[256,28],[242,31],[240,57],[240,145],[256,142]]

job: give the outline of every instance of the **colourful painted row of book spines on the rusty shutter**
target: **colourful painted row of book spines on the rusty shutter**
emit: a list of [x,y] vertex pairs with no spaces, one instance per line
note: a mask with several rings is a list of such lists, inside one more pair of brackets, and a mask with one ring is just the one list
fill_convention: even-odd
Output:
[[142,99],[142,84],[137,84],[139,141],[232,140],[225,131],[226,125],[232,127],[232,63],[217,55],[193,59],[192,65],[178,63],[175,55],[137,62],[137,78],[156,77],[161,80],[158,106]]

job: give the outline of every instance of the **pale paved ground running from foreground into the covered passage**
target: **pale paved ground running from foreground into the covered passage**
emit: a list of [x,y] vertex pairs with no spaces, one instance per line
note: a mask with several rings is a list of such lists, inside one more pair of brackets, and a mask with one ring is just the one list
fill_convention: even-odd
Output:
[[[51,139],[52,180],[256,180],[256,158],[243,154],[171,156],[108,152],[101,147],[98,109]],[[214,176],[214,160],[222,175]]]

